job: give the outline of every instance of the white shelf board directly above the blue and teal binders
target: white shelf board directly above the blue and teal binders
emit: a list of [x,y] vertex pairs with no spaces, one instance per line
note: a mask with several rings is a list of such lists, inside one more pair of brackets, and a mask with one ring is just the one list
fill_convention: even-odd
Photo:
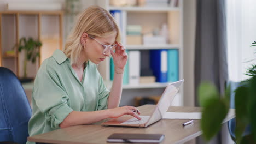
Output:
[[126,45],[127,50],[148,50],[148,49],[179,49],[178,44],[167,45]]

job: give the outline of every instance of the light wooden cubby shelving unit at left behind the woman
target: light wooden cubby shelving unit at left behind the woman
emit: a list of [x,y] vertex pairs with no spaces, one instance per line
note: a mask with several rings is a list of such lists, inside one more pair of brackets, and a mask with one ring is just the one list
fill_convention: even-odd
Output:
[[[12,70],[19,78],[23,75],[24,52],[15,44],[20,38],[32,37],[42,42],[36,63],[28,62],[28,77],[36,76],[39,65],[55,49],[62,49],[63,11],[0,11],[0,66]],[[50,27],[49,27],[50,26]],[[6,52],[14,53],[7,55]]]

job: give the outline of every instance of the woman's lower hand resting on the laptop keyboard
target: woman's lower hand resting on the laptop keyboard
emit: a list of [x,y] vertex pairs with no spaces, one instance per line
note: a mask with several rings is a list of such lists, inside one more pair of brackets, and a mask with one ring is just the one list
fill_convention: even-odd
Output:
[[[114,109],[109,109],[110,111],[110,117],[111,118],[117,118],[123,115],[131,115],[139,120],[141,120],[141,117],[138,116],[138,114],[141,114],[136,107],[133,106],[122,106],[122,107],[117,107]],[[135,111],[135,112],[134,112]]]

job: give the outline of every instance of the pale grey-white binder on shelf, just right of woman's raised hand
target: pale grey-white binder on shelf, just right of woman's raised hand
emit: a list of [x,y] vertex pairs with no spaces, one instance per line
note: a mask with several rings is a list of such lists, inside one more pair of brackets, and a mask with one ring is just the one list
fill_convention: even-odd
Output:
[[129,51],[129,85],[138,85],[140,74],[140,51]]

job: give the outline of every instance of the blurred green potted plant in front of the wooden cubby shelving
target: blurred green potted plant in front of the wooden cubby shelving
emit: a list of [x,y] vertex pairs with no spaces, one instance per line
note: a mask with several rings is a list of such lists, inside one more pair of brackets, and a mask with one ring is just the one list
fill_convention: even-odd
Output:
[[39,40],[34,40],[33,38],[26,39],[22,37],[18,44],[18,51],[25,51],[24,58],[24,75],[23,80],[27,81],[27,62],[31,61],[32,63],[36,62],[36,58],[40,56],[39,47],[42,46],[42,43]]

